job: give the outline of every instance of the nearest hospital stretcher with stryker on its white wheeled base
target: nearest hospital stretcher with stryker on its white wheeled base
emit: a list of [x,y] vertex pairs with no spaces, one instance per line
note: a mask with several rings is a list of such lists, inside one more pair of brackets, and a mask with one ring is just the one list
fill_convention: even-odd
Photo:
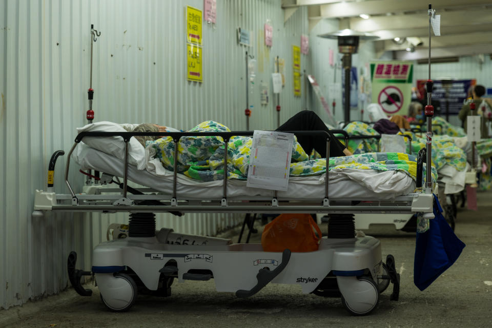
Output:
[[[297,135],[326,137],[326,154],[330,154],[330,137],[324,131],[296,132]],[[77,135],[65,169],[69,194],[52,190],[36,191],[34,209],[52,212],[130,212],[129,237],[103,242],[94,249],[90,271],[76,269],[76,253],[68,258],[69,279],[75,290],[90,296],[80,279],[94,275],[104,304],[113,311],[126,311],[137,293],[170,296],[174,279],[209,280],[214,278],[219,292],[233,292],[237,297],[249,297],[268,283],[297,284],[303,293],[341,297],[348,312],[365,315],[372,312],[379,295],[393,283],[392,300],[399,297],[399,274],[393,256],[385,263],[381,258],[378,239],[355,237],[353,214],[413,214],[423,213],[433,218],[432,183],[422,188],[425,149],[419,153],[417,182],[408,177],[404,188],[388,193],[375,193],[350,178],[335,176],[327,170],[315,177],[291,177],[288,192],[276,192],[245,187],[245,181],[227,179],[227,166],[221,181],[200,182],[174,170],[165,176],[155,176],[137,170],[129,164],[128,141],[132,136],[152,136],[148,132],[83,132]],[[232,136],[252,136],[248,132],[183,132],[158,133],[171,136],[175,143],[182,136],[220,136],[224,139],[224,162]],[[125,160],[84,147],[84,137],[120,136],[125,141]],[[76,151],[77,150],[77,151]],[[175,147],[174,167],[178,147]],[[50,171],[56,157],[53,154]],[[83,169],[102,172],[101,183],[115,183],[120,195],[94,189],[93,194],[78,194],[68,181],[71,158]],[[328,162],[328,161],[326,161]],[[327,164],[326,164],[327,165]],[[396,174],[403,172],[395,171]],[[51,177],[53,176],[51,173]],[[120,182],[119,178],[122,178]],[[146,186],[130,188],[129,181]],[[415,191],[417,190],[417,191]],[[103,191],[103,192],[101,192]],[[109,190],[112,191],[112,190]],[[154,213],[322,213],[329,214],[333,227],[340,233],[323,237],[318,251],[295,253],[263,252],[261,244],[231,244],[215,239],[209,243],[176,244],[169,242],[169,229],[156,231]],[[340,230],[341,229],[341,230]],[[335,230],[335,229],[334,229]],[[190,236],[189,239],[193,239]],[[207,237],[202,237],[207,238]],[[210,239],[210,238],[209,238]]]

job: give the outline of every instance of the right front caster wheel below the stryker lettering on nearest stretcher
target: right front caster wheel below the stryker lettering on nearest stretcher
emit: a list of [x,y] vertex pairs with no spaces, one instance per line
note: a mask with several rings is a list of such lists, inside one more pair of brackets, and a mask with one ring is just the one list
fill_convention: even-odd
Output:
[[362,278],[353,284],[353,291],[345,297],[342,294],[342,304],[345,309],[354,316],[365,316],[370,314],[378,305],[379,290],[372,279]]

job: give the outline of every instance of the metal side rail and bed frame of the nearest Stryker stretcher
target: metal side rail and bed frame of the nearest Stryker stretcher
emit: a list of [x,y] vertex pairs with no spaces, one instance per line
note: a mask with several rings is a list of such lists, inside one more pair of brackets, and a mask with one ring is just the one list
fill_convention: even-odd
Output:
[[[326,138],[326,154],[330,157],[330,134],[326,131],[288,131],[296,135],[317,135]],[[228,140],[232,136],[251,136],[254,131],[234,131],[234,132],[159,132],[159,135],[168,135],[172,137],[175,144],[183,136],[220,136],[224,140],[224,147],[227,146]],[[65,182],[70,194],[60,195],[55,194],[52,190],[48,192],[36,191],[35,194],[35,210],[51,210],[60,212],[183,212],[183,213],[394,213],[408,214],[416,212],[432,213],[432,193],[429,189],[425,192],[414,193],[407,195],[409,197],[398,197],[394,200],[364,200],[350,199],[351,201],[340,201],[339,199],[329,199],[329,170],[325,171],[324,179],[324,195],[320,195],[317,199],[286,201],[278,199],[274,193],[272,198],[262,196],[262,199],[251,197],[249,202],[239,201],[240,199],[228,197],[228,179],[227,172],[223,175],[223,195],[221,199],[209,201],[200,201],[193,199],[180,198],[177,194],[177,172],[173,172],[173,189],[167,195],[145,195],[144,192],[152,192],[151,189],[146,189],[142,192],[133,190],[128,186],[128,141],[133,136],[150,136],[155,135],[154,132],[83,132],[77,135],[75,144],[71,148],[68,156],[65,169]],[[126,154],[124,160],[124,176],[123,182],[118,183],[122,188],[122,193],[119,195],[103,194],[107,191],[101,190],[95,194],[75,194],[68,181],[70,170],[70,158],[78,143],[86,136],[120,136],[126,144]],[[359,138],[376,138],[380,136],[352,136],[350,139]],[[177,152],[178,147],[175,147]],[[419,154],[419,163],[417,174],[422,177],[422,162],[425,154]],[[428,155],[428,154],[427,154]],[[174,159],[176,162],[177,154]],[[224,151],[224,162],[227,162],[227,148]],[[326,161],[326,164],[328,161]],[[176,166],[176,163],[175,163]],[[421,186],[421,185],[420,185]],[[417,187],[419,186],[419,178],[417,179]],[[137,193],[132,195],[131,193]],[[155,197],[155,198],[152,198]],[[145,205],[140,200],[155,200],[147,202]],[[243,199],[244,200],[244,199]],[[258,202],[258,200],[261,200]]]

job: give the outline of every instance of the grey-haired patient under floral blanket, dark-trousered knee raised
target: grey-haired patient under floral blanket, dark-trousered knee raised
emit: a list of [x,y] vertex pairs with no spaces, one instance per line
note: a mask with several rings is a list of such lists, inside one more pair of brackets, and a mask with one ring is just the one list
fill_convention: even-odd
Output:
[[[156,126],[138,126],[137,129],[158,129]],[[316,131],[329,132],[321,119],[309,111],[296,114],[279,130],[283,131]],[[140,130],[141,131],[141,130]],[[230,130],[215,121],[204,121],[190,132],[230,132]],[[146,141],[146,152],[152,166],[162,165],[166,170],[183,173],[186,176],[201,180],[213,181],[223,178],[224,172],[224,142],[221,137],[193,137],[183,135],[178,143],[177,165],[174,167],[175,143],[172,137],[162,137]],[[249,158],[252,148],[252,138],[234,136],[228,142],[228,177],[246,179],[248,176]],[[324,158],[309,160],[306,149],[315,149]],[[356,170],[362,174],[375,171],[404,171],[414,179],[416,177],[416,160],[414,156],[396,153],[371,153],[352,156],[336,139],[330,142],[331,170]],[[291,176],[321,175],[326,168],[326,139],[324,137],[299,136],[295,139],[292,150],[290,167]],[[348,155],[348,156],[344,156]],[[160,163],[160,165],[159,165]],[[363,170],[362,172],[360,170]]]

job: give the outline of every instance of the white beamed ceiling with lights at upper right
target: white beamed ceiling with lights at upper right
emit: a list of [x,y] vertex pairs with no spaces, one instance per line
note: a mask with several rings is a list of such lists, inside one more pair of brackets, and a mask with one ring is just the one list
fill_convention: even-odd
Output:
[[393,51],[394,58],[420,59],[428,56],[429,2],[441,14],[441,36],[433,34],[431,41],[433,57],[492,53],[492,0],[282,0],[282,8],[287,19],[308,6],[310,28],[323,18],[336,18],[340,29],[378,35],[378,54]]

